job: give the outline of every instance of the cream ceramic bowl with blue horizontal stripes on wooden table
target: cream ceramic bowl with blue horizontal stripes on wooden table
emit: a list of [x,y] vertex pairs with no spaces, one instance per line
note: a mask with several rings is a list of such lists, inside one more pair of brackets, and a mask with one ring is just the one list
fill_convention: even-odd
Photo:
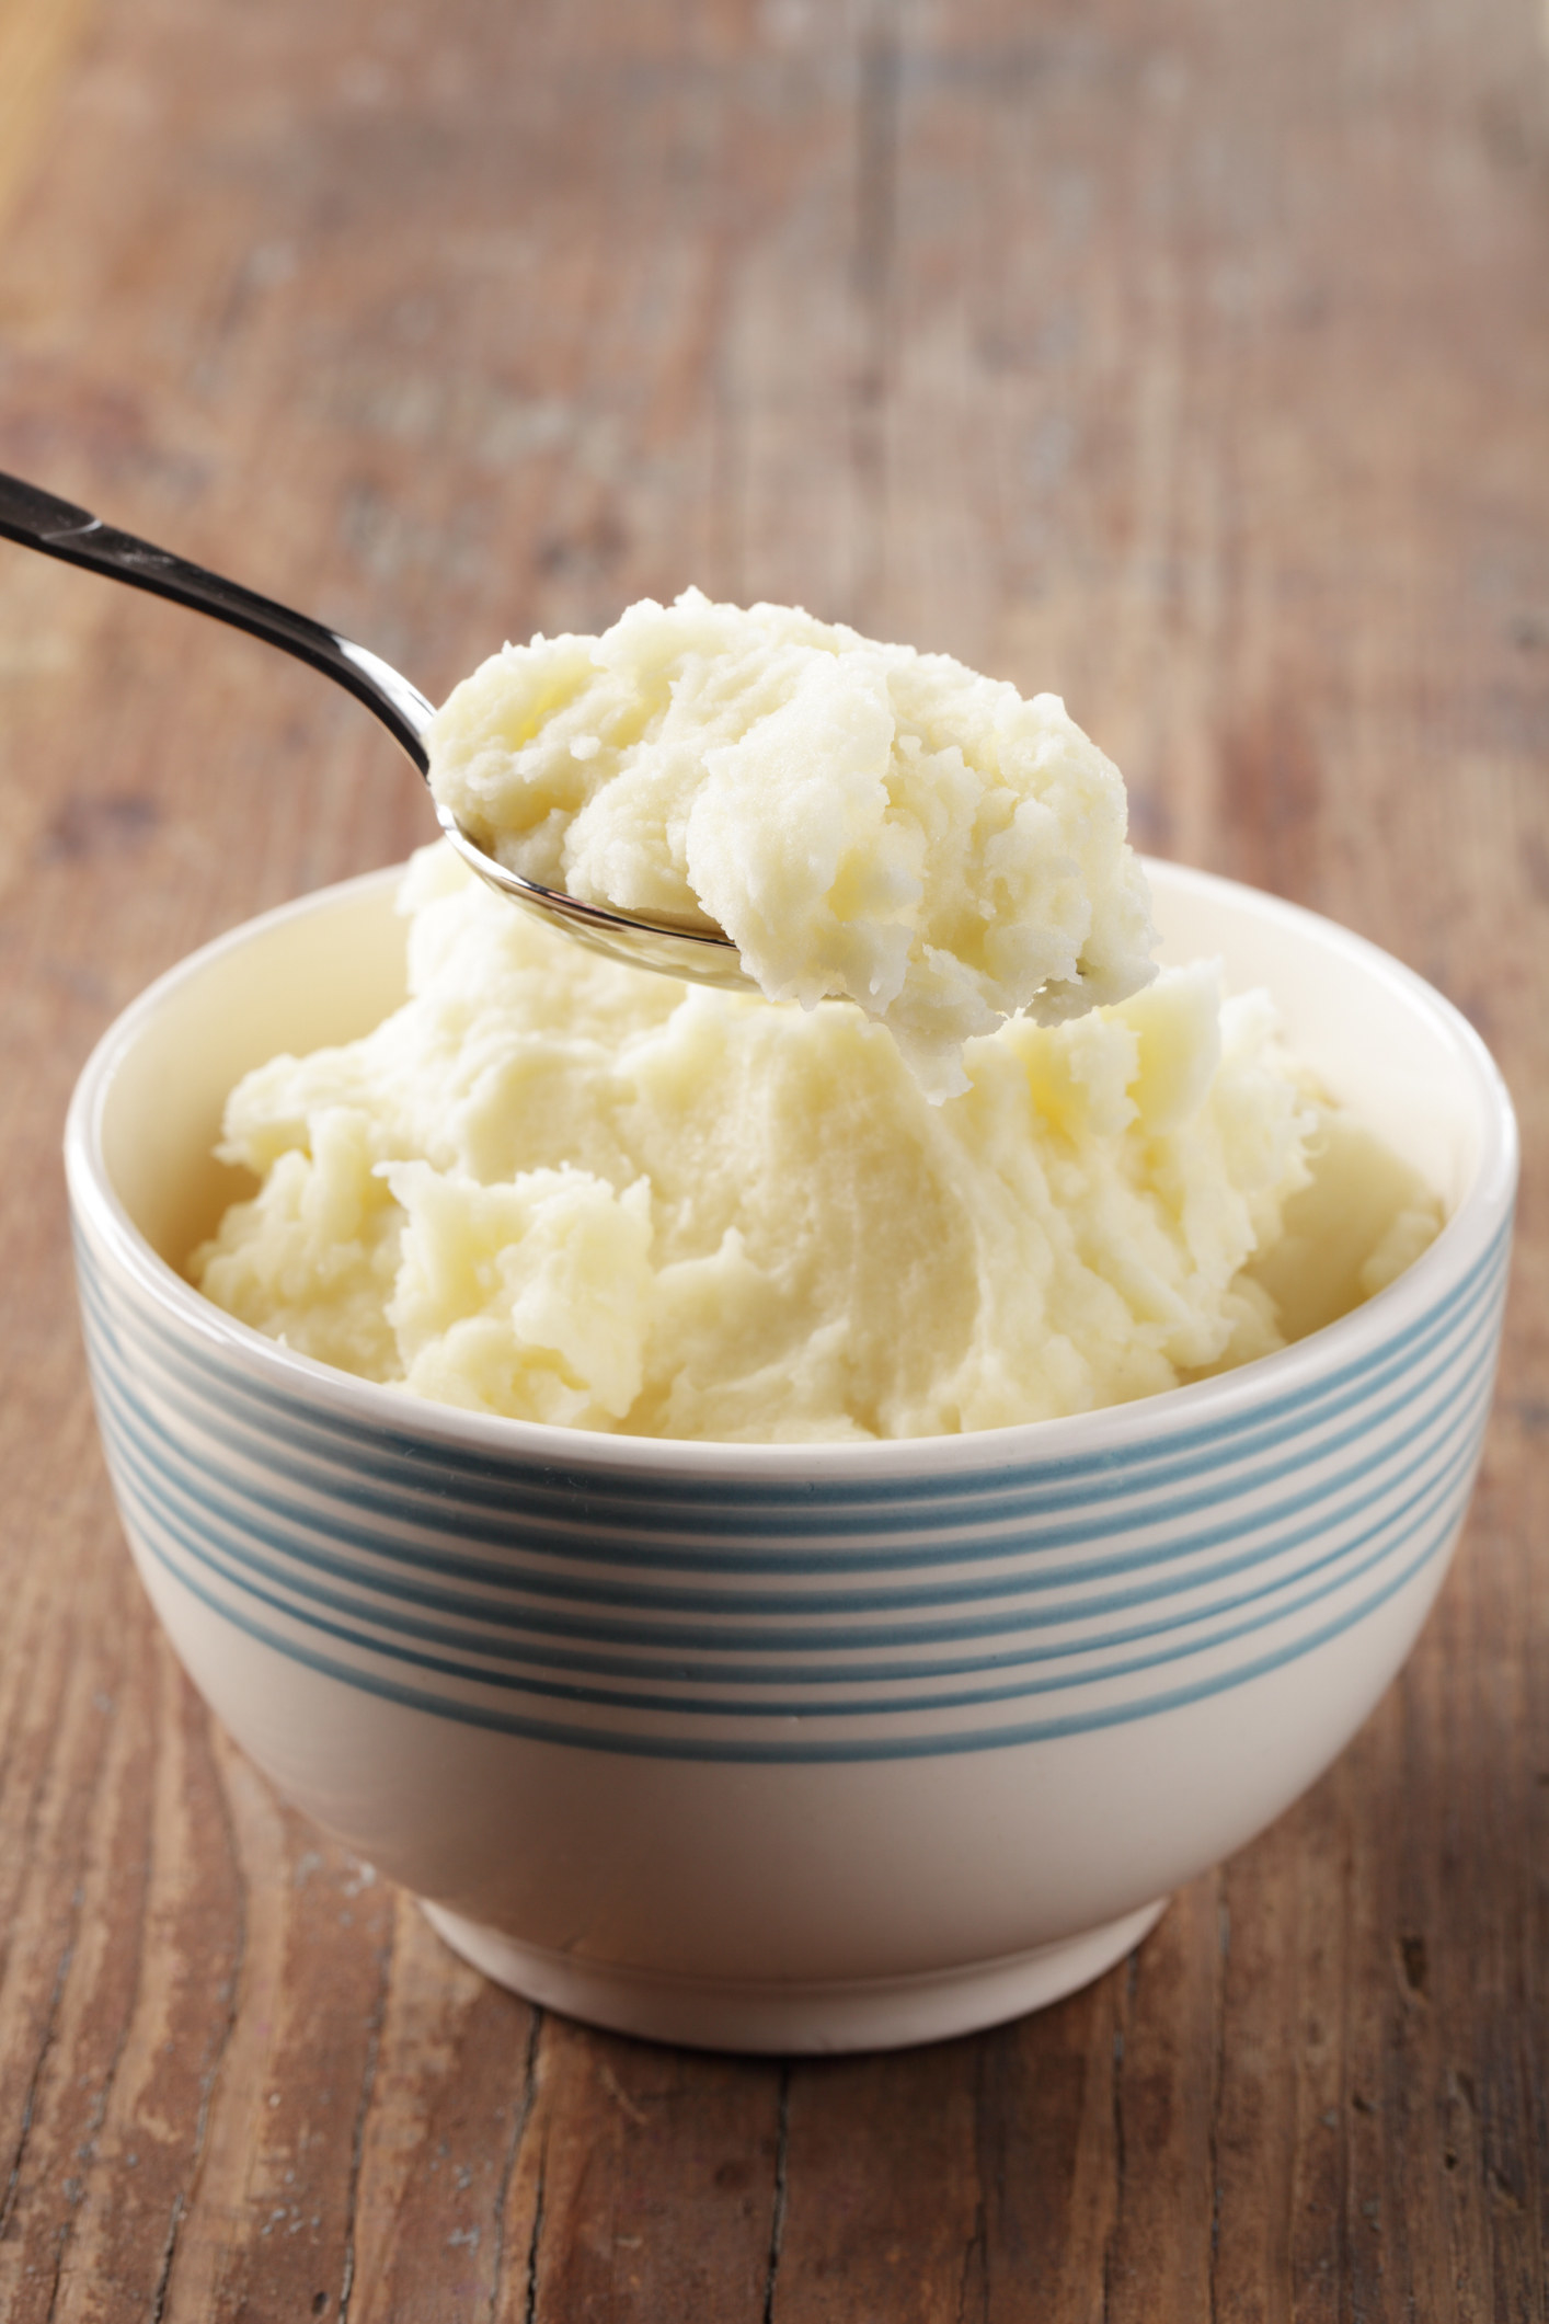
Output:
[[1152,867],[1163,953],[1266,983],[1438,1188],[1438,1243],[1242,1371],[1064,1422],[718,1446],[346,1378],[181,1278],[228,1088],[402,992],[392,874],[153,985],[67,1129],[123,1527],[195,1685],[444,1938],[597,2024],[915,2043],[1052,2001],[1261,1831],[1456,1543],[1516,1146],[1463,1018],[1312,913]]

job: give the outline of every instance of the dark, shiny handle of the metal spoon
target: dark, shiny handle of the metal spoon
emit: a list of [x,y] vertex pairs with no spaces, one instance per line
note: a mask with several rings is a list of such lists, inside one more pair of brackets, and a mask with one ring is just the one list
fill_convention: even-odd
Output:
[[434,718],[434,704],[367,646],[353,646],[320,621],[293,614],[290,607],[153,548],[151,541],[137,541],[132,532],[116,532],[86,509],[56,500],[21,476],[0,474],[0,537],[21,541],[23,548],[39,548],[46,558],[63,558],[65,565],[86,565],[109,581],[128,581],[130,588],[172,597],[197,614],[230,623],[232,630],[262,637],[297,662],[311,662],[325,679],[334,679],[376,711],[420,774],[430,769],[425,727]]

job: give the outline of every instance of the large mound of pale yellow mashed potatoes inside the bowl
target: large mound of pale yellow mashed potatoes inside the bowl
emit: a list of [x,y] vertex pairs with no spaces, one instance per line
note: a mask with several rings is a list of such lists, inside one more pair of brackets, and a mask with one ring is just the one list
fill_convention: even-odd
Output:
[[[1277,1250],[1312,1329],[1435,1232],[1212,964],[973,1039],[929,1104],[862,1011],[613,967],[444,848],[404,906],[406,1006],[235,1090],[223,1155],[258,1192],[190,1262],[372,1380],[643,1436],[989,1429],[1277,1348]],[[1319,1290],[1335,1148],[1377,1192]]]

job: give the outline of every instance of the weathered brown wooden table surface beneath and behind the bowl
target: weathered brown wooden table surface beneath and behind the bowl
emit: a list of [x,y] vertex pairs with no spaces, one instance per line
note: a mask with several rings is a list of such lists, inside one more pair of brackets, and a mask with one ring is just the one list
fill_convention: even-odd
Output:
[[123,1552],[56,1146],[109,1016],[425,837],[341,695],[0,548],[7,2319],[1526,2319],[1549,2147],[1549,63],[1528,0],[0,0],[0,465],[432,693],[687,581],[1052,686],[1140,841],[1514,1085],[1484,1483],[1340,1766],[1022,2024],[525,2008]]

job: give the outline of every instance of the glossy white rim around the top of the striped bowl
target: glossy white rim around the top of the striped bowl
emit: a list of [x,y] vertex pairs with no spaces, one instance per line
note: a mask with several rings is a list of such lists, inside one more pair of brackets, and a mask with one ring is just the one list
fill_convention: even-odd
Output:
[[1117,1457],[1145,1441],[1191,1434],[1210,1422],[1235,1422],[1263,1406],[1296,1404],[1301,1394],[1328,1387],[1333,1376],[1366,1369],[1382,1348],[1417,1327],[1449,1285],[1461,1283],[1493,1250],[1510,1225],[1516,1190],[1516,1116],[1500,1069],[1468,1018],[1435,985],[1368,937],[1359,937],[1305,904],[1291,904],[1215,871],[1198,871],[1161,858],[1143,858],[1143,867],[1147,878],[1173,892],[1208,895],[1238,906],[1249,904],[1261,918],[1287,927],[1303,941],[1312,939],[1333,948],[1345,955],[1354,971],[1377,978],[1405,995],[1410,1004],[1419,1004],[1458,1053],[1475,1085],[1482,1129],[1479,1164],[1470,1188],[1435,1243],[1412,1267],[1363,1306],[1340,1315],[1338,1322],[1208,1380],[1189,1380],[1182,1387],[1136,1397],[1129,1404],[1098,1406],[1057,1420],[1017,1420],[954,1436],[894,1436],[873,1443],[727,1443],[697,1436],[604,1434],[434,1404],[406,1387],[337,1371],[332,1364],[300,1355],[228,1315],[151,1250],[109,1181],[102,1118],[114,1076],[144,1027],[176,990],[195,983],[228,953],[242,951],[286,920],[327,911],[369,890],[395,888],[402,878],[402,865],[314,888],[242,920],[165,969],[114,1018],[81,1067],[65,1118],[70,1206],[77,1227],[91,1234],[93,1246],[121,1276],[163,1308],[181,1332],[193,1334],[195,1343],[202,1341],[218,1350],[248,1378],[283,1387],[367,1434],[383,1429],[395,1436],[411,1434],[425,1443],[444,1443],[462,1457],[471,1452],[495,1462],[504,1457],[506,1462],[520,1459],[553,1469],[632,1471],[636,1476],[671,1476],[690,1469],[701,1478],[769,1485],[797,1478],[882,1483],[968,1471],[1026,1471],[1068,1459],[1089,1462],[1094,1455]]

